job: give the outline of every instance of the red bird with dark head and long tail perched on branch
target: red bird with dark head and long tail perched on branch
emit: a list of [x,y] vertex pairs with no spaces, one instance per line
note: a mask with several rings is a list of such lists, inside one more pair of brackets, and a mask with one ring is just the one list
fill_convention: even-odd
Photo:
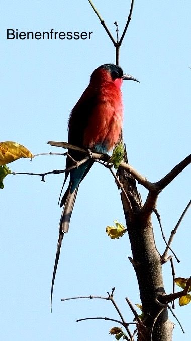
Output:
[[[122,127],[121,85],[125,79],[138,81],[134,77],[124,74],[121,67],[114,64],[104,64],[93,71],[88,87],[70,113],[68,143],[97,153],[108,153],[115,146],[119,140]],[[69,149],[68,153],[77,161],[84,158],[84,154],[76,150]],[[53,286],[62,239],[69,229],[79,184],[92,164],[93,161],[88,160],[78,168],[65,173],[64,184],[69,173],[70,181],[60,204],[60,206],[64,205],[64,208],[60,218],[59,239],[52,277],[51,309]],[[72,159],[67,156],[66,168],[72,165]]]

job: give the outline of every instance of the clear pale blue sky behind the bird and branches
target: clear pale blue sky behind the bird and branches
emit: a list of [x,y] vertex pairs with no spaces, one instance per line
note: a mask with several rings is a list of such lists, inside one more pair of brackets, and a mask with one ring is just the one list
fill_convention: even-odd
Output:
[[[129,13],[130,1],[95,0],[115,36]],[[124,82],[124,139],[130,164],[150,181],[157,181],[190,152],[191,3],[136,1],[121,47],[120,65],[140,80]],[[33,154],[62,152],[46,144],[67,141],[69,112],[86,88],[94,69],[115,62],[115,50],[87,0],[13,1],[1,6],[1,141],[16,141]],[[7,40],[7,29],[19,31],[92,31],[90,40]],[[41,156],[10,164],[15,172],[64,169],[62,156]],[[61,209],[57,206],[64,175],[8,176],[1,197],[1,327],[3,341],[114,340],[115,323],[75,320],[118,318],[105,300],[63,297],[106,295],[115,299],[127,322],[133,320],[125,297],[140,303],[128,236],[111,240],[107,225],[125,224],[120,192],[111,174],[95,165],[78,191],[70,231],[65,236],[50,313],[50,287]],[[142,198],[147,191],[139,186]],[[190,199],[190,168],[159,196],[158,211],[168,239]],[[181,223],[173,250],[176,276],[190,276],[190,212]],[[165,244],[153,216],[156,244]],[[163,266],[167,293],[172,291],[170,263]],[[177,290],[179,288],[177,287]],[[191,305],[175,313],[173,340],[188,341]]]

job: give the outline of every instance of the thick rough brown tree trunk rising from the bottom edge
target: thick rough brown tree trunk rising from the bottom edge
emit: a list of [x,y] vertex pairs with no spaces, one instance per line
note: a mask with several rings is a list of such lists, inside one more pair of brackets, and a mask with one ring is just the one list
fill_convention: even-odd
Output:
[[[158,297],[165,294],[165,290],[161,257],[154,241],[152,209],[150,205],[143,209],[135,180],[124,169],[120,169],[120,181],[131,202],[133,212],[130,214],[130,205],[122,193],[121,199],[133,256],[132,264],[137,276],[144,312],[145,327],[139,329],[138,340],[170,341],[173,323],[168,319],[167,308],[157,303]],[[155,193],[155,198],[156,196]]]

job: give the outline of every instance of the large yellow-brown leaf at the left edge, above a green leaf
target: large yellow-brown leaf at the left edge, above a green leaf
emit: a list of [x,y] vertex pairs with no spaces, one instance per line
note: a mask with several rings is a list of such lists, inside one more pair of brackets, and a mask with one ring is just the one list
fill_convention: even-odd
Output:
[[33,158],[33,154],[19,143],[0,142],[0,166],[18,160],[21,157]]

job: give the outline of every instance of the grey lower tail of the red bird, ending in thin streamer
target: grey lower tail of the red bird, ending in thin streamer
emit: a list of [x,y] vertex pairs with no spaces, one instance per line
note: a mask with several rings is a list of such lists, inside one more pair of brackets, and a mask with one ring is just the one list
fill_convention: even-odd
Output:
[[57,270],[58,261],[60,257],[60,249],[62,246],[62,240],[63,240],[64,234],[67,233],[69,229],[70,218],[71,218],[73,206],[74,206],[77,191],[78,191],[78,186],[73,191],[73,193],[70,193],[70,188],[71,188],[71,182],[69,183],[69,186],[61,200],[61,206],[64,205],[64,208],[63,208],[62,215],[60,218],[59,238],[58,238],[58,244],[57,244],[57,250],[56,250],[54,270],[53,270],[53,275],[52,275],[51,296],[50,296],[51,312],[52,312],[52,294],[53,294],[54,280],[55,280],[56,270]]

